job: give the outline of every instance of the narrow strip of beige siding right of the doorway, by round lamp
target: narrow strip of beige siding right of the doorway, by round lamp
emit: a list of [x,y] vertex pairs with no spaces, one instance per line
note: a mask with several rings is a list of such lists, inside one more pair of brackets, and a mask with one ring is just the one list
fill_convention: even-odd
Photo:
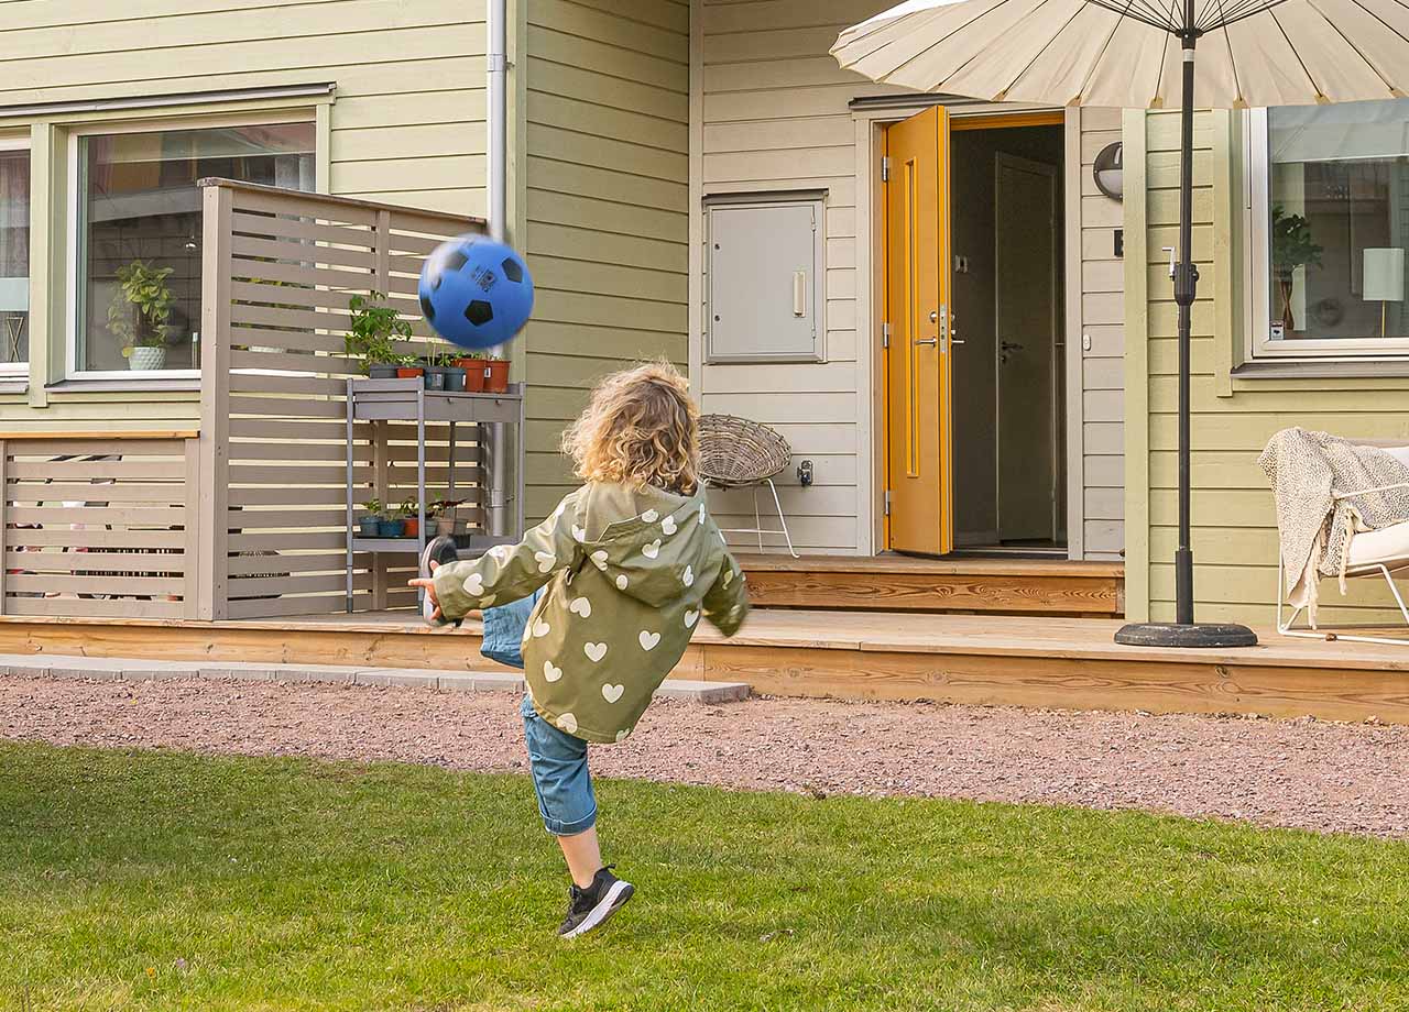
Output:
[[[1117,201],[1096,189],[1096,153],[1120,139],[1120,111],[1081,110],[1081,332],[1068,353],[1081,355],[1082,556],[1119,560],[1124,538],[1124,266],[1115,232],[1124,225]],[[1084,341],[1091,339],[1086,350]]]

